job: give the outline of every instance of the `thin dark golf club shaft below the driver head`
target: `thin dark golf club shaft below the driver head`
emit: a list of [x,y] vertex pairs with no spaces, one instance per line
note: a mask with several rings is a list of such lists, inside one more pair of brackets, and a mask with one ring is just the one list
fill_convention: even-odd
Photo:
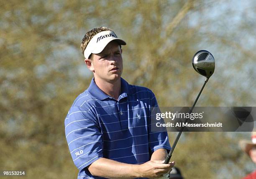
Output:
[[[194,102],[194,105],[192,106],[192,108],[191,108],[191,110],[190,110],[190,112],[189,112],[189,115],[192,113],[192,111],[193,111],[193,109],[194,109],[194,107],[195,107],[195,105],[196,105],[196,103],[197,103],[197,100],[199,99],[199,97],[200,97],[200,95],[201,95],[201,93],[202,93],[202,90],[204,89],[205,84],[207,83],[208,79],[209,79],[209,78],[206,78],[206,79],[205,79],[205,83],[204,83],[204,85],[202,86],[202,88],[201,88],[199,94],[197,95],[197,98],[196,98],[196,100],[195,100],[195,102]],[[189,119],[189,118],[187,118],[187,119],[185,120],[185,123],[187,123],[188,119]],[[166,156],[165,161],[164,161],[164,164],[168,164],[168,163],[169,163],[169,161],[170,161],[170,159],[171,159],[171,157],[172,157],[172,153],[173,153],[173,151],[174,151],[174,148],[175,148],[177,142],[179,141],[179,137],[180,137],[180,135],[182,134],[184,128],[185,128],[185,127],[183,126],[182,129],[179,131],[177,137],[175,138],[175,141],[174,141],[174,143],[172,144],[172,149],[171,149],[171,151],[168,153],[168,155]]]

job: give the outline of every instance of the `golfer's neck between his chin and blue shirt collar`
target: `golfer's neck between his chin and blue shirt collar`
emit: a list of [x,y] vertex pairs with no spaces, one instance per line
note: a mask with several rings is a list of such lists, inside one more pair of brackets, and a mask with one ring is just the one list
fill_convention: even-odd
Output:
[[106,82],[102,79],[94,79],[95,83],[97,86],[105,92],[107,95],[110,97],[115,98],[115,100],[118,100],[118,97],[121,93],[121,79],[119,78],[118,80],[114,82]]

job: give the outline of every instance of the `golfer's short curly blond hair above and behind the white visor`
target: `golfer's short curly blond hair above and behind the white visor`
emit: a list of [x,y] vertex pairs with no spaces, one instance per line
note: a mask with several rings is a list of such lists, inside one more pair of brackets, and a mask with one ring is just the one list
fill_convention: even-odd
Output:
[[[85,35],[84,38],[82,39],[81,42],[81,51],[82,54],[84,54],[84,50],[86,49],[88,43],[92,39],[93,36],[95,36],[97,33],[103,32],[103,31],[112,31],[110,28],[107,27],[97,27],[93,28],[92,30],[88,31]],[[90,59],[91,55],[89,56]]]

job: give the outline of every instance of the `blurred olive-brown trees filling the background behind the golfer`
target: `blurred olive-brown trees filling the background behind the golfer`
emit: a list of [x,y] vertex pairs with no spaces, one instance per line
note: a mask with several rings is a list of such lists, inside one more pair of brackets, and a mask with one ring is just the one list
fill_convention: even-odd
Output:
[[[253,0],[0,2],[0,169],[75,178],[64,118],[90,83],[79,46],[97,26],[125,39],[123,77],[153,90],[160,106],[192,105],[204,82],[191,65],[200,49],[212,52],[216,70],[197,105],[255,105],[255,7]],[[243,136],[186,133],[173,159],[186,178],[240,178],[250,164],[237,147]]]

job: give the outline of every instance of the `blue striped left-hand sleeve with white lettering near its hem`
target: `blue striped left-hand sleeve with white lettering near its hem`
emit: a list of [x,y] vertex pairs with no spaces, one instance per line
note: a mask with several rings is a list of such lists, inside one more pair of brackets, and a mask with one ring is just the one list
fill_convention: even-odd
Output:
[[102,157],[102,133],[97,115],[73,106],[64,124],[69,151],[79,170]]

